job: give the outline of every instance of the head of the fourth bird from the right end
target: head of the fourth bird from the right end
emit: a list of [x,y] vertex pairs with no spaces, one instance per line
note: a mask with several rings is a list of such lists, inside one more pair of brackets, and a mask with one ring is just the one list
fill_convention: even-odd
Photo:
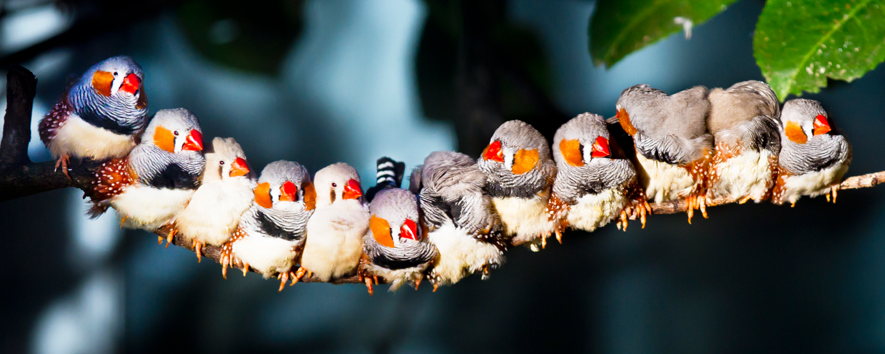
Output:
[[559,127],[553,136],[557,168],[583,167],[598,158],[611,158],[609,132],[602,116],[583,113]]

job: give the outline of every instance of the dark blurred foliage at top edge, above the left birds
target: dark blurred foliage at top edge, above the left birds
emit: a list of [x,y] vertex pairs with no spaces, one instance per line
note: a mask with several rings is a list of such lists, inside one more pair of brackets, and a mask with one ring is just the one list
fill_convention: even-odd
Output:
[[302,3],[188,0],[179,7],[177,17],[205,58],[247,72],[276,74],[301,33]]

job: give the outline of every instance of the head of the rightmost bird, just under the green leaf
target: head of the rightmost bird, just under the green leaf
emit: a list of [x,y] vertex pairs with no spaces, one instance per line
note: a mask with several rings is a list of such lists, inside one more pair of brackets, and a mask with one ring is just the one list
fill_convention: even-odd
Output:
[[781,112],[783,135],[790,142],[804,144],[810,139],[823,139],[832,128],[827,119],[827,111],[820,102],[797,98],[783,104]]

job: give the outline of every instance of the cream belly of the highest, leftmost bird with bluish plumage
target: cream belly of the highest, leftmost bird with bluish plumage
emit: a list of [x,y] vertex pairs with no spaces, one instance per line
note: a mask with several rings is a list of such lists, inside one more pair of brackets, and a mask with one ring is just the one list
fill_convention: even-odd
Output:
[[65,124],[58,128],[48,148],[55,156],[70,155],[76,158],[122,158],[135,148],[135,139],[95,127],[71,114]]

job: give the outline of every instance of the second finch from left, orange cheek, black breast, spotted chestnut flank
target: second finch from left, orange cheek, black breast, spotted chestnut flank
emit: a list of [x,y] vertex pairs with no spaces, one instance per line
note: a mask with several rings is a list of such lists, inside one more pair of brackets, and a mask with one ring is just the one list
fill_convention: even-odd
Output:
[[129,156],[108,160],[96,170],[88,191],[89,214],[96,218],[112,206],[122,225],[157,230],[188,205],[204,165],[203,134],[194,113],[161,110]]

